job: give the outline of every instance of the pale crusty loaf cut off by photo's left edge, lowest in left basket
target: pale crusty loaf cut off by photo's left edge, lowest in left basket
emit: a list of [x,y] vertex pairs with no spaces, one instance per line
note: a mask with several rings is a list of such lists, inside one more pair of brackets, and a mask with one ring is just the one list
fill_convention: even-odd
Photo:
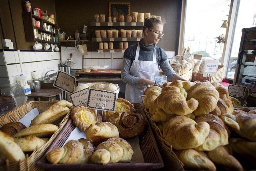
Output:
[[10,163],[15,163],[26,159],[26,156],[20,146],[14,142],[14,138],[2,131],[0,131],[0,151],[1,162],[8,159]]

